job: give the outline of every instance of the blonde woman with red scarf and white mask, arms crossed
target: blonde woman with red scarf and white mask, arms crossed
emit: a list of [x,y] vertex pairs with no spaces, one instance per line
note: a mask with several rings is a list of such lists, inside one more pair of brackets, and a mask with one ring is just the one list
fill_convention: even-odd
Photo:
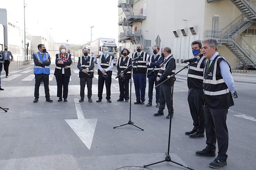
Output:
[[67,49],[65,45],[61,45],[59,48],[60,53],[56,54],[55,71],[54,75],[57,82],[57,97],[58,102],[62,101],[62,87],[64,102],[67,102],[68,98],[68,83],[71,75],[70,65],[72,64],[71,54],[66,53]]

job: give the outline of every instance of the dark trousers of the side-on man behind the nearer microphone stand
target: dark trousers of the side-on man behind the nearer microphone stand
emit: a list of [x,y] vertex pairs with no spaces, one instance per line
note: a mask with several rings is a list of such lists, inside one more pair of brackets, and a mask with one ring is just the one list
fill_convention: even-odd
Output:
[[173,114],[173,109],[171,110],[171,86],[166,86],[162,84],[160,87],[160,106],[158,111],[163,112],[165,104],[168,109],[168,113]]

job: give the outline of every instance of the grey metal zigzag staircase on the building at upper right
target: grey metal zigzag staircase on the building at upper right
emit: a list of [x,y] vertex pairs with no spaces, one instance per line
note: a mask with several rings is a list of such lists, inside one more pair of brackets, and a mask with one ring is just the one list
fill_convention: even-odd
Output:
[[242,15],[225,28],[206,30],[205,35],[206,37],[217,38],[220,44],[224,44],[243,64],[239,68],[256,68],[256,52],[240,36],[244,30],[252,24],[256,24],[256,5],[251,0],[230,1],[242,12]]

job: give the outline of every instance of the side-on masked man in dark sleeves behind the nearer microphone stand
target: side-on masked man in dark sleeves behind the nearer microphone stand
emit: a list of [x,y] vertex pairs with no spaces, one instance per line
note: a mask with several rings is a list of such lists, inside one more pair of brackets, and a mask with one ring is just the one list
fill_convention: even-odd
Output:
[[[157,74],[156,81],[159,81],[160,83],[164,80],[168,79],[171,75],[175,73],[175,59],[171,55],[171,48],[170,47],[164,47],[162,54],[162,57],[164,57],[163,64],[161,65],[161,68]],[[160,88],[160,106],[157,111],[157,113],[154,114],[154,116],[163,116],[163,110],[165,108],[165,104],[168,109],[168,115],[166,116],[167,119],[170,119],[170,117],[173,117],[173,107],[171,109],[171,87],[173,86],[173,81],[171,79],[164,82],[159,88]]]

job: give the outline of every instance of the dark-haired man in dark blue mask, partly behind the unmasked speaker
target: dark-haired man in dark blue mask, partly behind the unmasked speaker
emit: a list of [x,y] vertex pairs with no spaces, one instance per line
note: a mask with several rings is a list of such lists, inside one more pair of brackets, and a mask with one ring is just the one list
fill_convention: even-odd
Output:
[[205,58],[202,53],[201,40],[197,39],[191,43],[191,49],[194,57],[200,59],[189,63],[188,69],[188,105],[194,128],[192,131],[185,132],[190,138],[204,137],[204,94],[203,94],[203,67]]

